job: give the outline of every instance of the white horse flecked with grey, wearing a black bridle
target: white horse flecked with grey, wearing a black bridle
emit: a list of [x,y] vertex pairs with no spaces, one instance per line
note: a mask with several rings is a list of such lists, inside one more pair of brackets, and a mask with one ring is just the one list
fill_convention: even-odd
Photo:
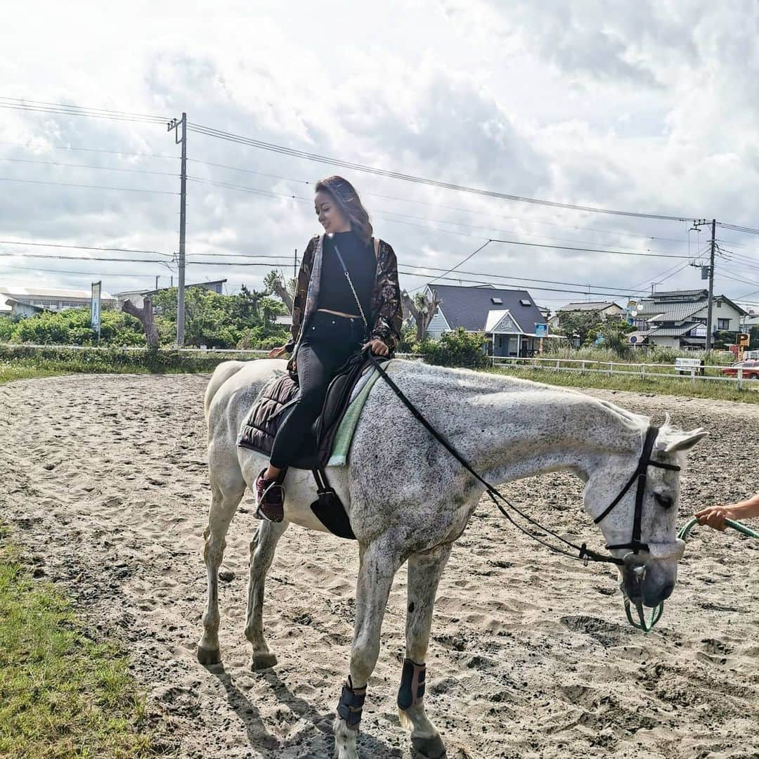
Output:
[[[206,389],[211,506],[204,557],[208,603],[197,655],[219,663],[218,572],[225,535],[246,487],[254,483],[263,455],[237,446],[241,424],[262,386],[282,359],[220,364]],[[395,360],[389,376],[474,470],[493,485],[542,472],[568,470],[585,482],[584,508],[603,514],[638,467],[649,420],[609,402],[508,376],[446,369]],[[706,435],[669,427],[650,458],[682,465],[684,452]],[[378,379],[357,424],[347,466],[331,467],[329,482],[348,510],[360,556],[356,619],[350,656],[351,689],[343,689],[335,718],[335,756],[357,759],[356,738],[367,681],[379,655],[379,633],[395,572],[408,562],[406,661],[398,704],[402,725],[417,751],[445,754],[442,739],[424,711],[424,661],[438,581],[452,544],[464,531],[485,488],[439,445],[392,389]],[[641,536],[644,580],[639,593],[656,606],[672,593],[682,548],[676,547],[679,472],[647,471]],[[276,664],[263,636],[263,586],[277,541],[294,522],[324,531],[310,509],[315,483],[310,471],[291,469],[285,480],[285,521],[262,522],[250,543],[250,584],[245,636],[253,644],[253,669]],[[600,523],[609,545],[628,543],[635,513],[631,487]],[[681,544],[682,545],[682,544]],[[628,550],[613,550],[622,557]],[[619,568],[631,586],[631,569]],[[640,572],[638,567],[638,572]],[[640,578],[641,574],[638,574]],[[342,715],[342,716],[341,716]]]

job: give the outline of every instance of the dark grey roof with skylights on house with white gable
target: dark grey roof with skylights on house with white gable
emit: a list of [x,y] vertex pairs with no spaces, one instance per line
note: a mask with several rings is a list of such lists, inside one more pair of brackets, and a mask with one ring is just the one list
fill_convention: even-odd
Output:
[[[464,327],[469,332],[485,328],[487,312],[509,310],[521,329],[534,335],[535,325],[546,323],[535,301],[527,290],[500,290],[491,287],[465,287],[459,285],[427,285],[437,291],[440,311],[452,329]],[[502,303],[493,303],[492,298],[500,298]],[[530,301],[523,306],[520,301]]]

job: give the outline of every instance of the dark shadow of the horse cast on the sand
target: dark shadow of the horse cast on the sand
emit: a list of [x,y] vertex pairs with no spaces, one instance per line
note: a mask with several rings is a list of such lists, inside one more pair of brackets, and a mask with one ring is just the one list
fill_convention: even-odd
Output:
[[[231,674],[224,669],[223,664],[208,666],[206,669],[212,675],[216,676],[216,678],[219,679],[219,682],[224,686],[227,703],[233,710],[235,710],[235,713],[244,723],[251,748],[271,751],[272,757],[279,756],[279,753],[285,748],[290,748],[288,741],[280,742],[275,735],[272,735],[266,729],[266,726],[261,719],[260,711],[250,699],[240,691],[237,685],[235,685]],[[263,672],[258,672],[257,676],[266,680],[280,703],[288,707],[292,713],[298,715],[298,717],[307,720],[307,722],[313,725],[313,727],[322,734],[325,741],[326,753],[319,752],[316,754],[308,754],[308,756],[313,756],[314,759],[322,756],[331,757],[334,749],[334,740],[332,738],[332,720],[334,720],[335,717],[334,711],[330,711],[326,714],[320,713],[313,704],[310,704],[304,698],[294,694],[273,669],[266,669]],[[302,743],[303,739],[303,734],[298,735],[296,738],[298,744]],[[359,751],[363,752],[364,756],[377,757],[377,759],[379,759],[379,757],[400,756],[397,748],[393,748],[391,745],[377,740],[372,735],[367,735],[366,732],[361,732],[359,734],[358,748]]]

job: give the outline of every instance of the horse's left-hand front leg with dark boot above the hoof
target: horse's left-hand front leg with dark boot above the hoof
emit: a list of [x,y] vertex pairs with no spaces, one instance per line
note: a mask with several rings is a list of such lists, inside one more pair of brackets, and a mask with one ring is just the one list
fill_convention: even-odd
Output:
[[342,688],[335,732],[336,759],[358,759],[356,739],[367,682],[379,656],[379,634],[385,616],[392,578],[402,559],[391,540],[380,539],[360,548],[356,585],[356,621],[351,646],[350,676]]

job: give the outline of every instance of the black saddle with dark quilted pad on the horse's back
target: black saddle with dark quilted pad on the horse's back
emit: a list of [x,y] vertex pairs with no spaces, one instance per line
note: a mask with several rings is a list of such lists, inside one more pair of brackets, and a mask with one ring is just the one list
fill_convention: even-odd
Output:
[[[327,387],[322,410],[291,464],[296,469],[313,472],[318,496],[311,504],[313,513],[332,534],[350,539],[355,539],[350,520],[339,496],[329,487],[324,468],[354,386],[371,365],[366,354],[357,353],[339,368]],[[298,391],[298,374],[294,372],[288,371],[266,383],[244,421],[238,446],[270,455],[279,426],[298,401]],[[280,481],[285,473],[280,474]]]

